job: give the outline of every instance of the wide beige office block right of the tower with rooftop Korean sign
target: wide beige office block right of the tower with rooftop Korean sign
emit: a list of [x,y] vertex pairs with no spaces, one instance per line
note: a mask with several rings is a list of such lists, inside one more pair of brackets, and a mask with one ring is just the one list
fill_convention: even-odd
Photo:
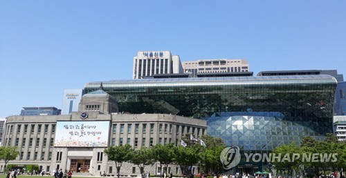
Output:
[[205,72],[248,72],[248,61],[245,59],[201,59],[183,61],[184,72],[191,72],[192,77]]

